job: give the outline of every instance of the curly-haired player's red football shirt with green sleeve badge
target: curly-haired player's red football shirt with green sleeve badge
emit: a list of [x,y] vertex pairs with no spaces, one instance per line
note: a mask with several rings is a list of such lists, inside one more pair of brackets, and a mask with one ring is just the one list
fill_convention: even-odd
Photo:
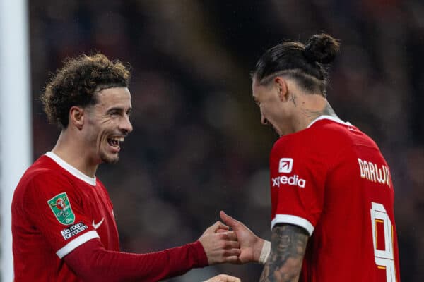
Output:
[[93,238],[118,251],[112,208],[100,180],[52,152],[37,159],[13,195],[15,280],[80,281],[61,258]]

